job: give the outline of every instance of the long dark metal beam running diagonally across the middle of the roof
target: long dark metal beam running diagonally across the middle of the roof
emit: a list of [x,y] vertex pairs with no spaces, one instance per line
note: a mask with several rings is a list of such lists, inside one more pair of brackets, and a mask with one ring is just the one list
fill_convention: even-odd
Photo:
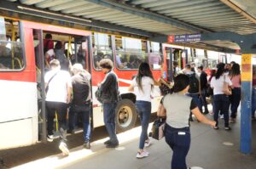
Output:
[[132,8],[131,6],[125,5],[125,4],[119,4],[119,3],[114,3],[109,0],[85,0],[86,2],[90,3],[96,3],[98,5],[101,5],[102,7],[107,7],[107,8],[113,8],[119,11],[122,11],[123,13],[128,13],[128,14],[135,14],[137,16],[141,16],[143,18],[147,18],[150,20],[156,20],[158,22],[163,22],[168,25],[175,25],[180,28],[184,28],[190,31],[195,31],[195,32],[210,32],[209,30],[203,29],[201,27],[195,26],[195,25],[189,25],[187,23],[184,23],[179,20],[174,20],[171,18],[168,18],[166,16],[162,16],[160,14],[154,14],[152,12],[148,11],[143,11],[142,9],[137,9],[137,8]]

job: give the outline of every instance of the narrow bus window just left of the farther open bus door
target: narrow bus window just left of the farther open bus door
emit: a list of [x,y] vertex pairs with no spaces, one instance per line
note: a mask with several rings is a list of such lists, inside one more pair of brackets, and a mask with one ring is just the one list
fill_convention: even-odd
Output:
[[152,69],[160,69],[163,62],[163,54],[159,42],[150,42],[149,65]]

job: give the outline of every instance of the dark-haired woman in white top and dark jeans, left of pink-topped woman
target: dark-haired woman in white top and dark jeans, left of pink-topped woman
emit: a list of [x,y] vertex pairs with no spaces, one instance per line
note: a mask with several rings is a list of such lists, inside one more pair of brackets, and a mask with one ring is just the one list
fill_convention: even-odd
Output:
[[214,129],[218,129],[218,112],[224,115],[224,128],[225,130],[230,130],[229,125],[229,107],[230,107],[230,99],[229,96],[224,94],[224,82],[227,82],[229,86],[232,85],[230,78],[224,75],[224,63],[219,63],[217,65],[216,75],[212,77],[211,87],[213,88],[213,113],[214,113],[214,121],[216,121],[216,127]]

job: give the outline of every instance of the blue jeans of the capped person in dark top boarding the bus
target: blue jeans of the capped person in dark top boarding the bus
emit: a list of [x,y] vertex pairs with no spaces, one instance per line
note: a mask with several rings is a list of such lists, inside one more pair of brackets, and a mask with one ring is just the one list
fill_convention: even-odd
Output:
[[83,106],[72,104],[69,113],[71,114],[69,119],[70,125],[74,127],[75,118],[74,116],[81,114],[83,121],[84,130],[84,142],[90,141],[90,104],[84,104]]

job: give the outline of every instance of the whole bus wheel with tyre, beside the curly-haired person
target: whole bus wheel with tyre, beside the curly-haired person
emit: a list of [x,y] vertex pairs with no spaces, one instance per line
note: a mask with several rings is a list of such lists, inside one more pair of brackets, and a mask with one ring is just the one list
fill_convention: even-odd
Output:
[[124,132],[135,126],[137,112],[135,104],[130,99],[119,101],[115,115],[117,132]]

